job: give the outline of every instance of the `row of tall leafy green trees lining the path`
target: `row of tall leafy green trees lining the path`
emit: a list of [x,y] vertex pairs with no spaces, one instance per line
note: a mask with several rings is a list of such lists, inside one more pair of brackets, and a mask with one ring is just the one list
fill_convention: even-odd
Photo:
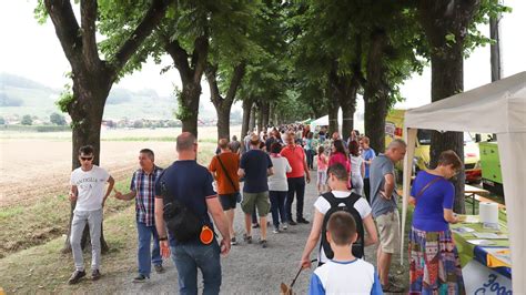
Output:
[[[476,26],[503,12],[497,0],[40,0],[38,19],[51,19],[71,65],[72,87],[59,105],[72,119],[72,167],[84,144],[100,152],[108,94],[149,58],[179,71],[178,112],[198,135],[202,80],[218,112],[218,136],[230,138],[230,112],[242,101],[245,134],[264,126],[328,113],[330,130],[354,128],[357,94],[365,133],[384,150],[385,115],[401,100],[398,85],[431,62],[432,101],[463,91],[463,59],[488,42]],[[79,9],[80,22],[74,10]],[[102,35],[102,40],[97,40]],[[432,160],[446,149],[463,155],[459,133],[434,133]],[[463,202],[462,177],[457,182]],[[73,204],[74,206],[74,204]],[[105,243],[103,244],[105,247]]]

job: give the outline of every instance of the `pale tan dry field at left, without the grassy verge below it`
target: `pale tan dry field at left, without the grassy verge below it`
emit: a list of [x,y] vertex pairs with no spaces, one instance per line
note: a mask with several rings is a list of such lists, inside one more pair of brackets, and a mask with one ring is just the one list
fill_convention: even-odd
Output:
[[[240,128],[233,128],[239,132]],[[174,139],[180,129],[103,131],[101,166],[115,180],[129,177],[136,167],[138,151],[155,152],[160,164],[175,159]],[[201,128],[201,150],[213,151],[215,128]],[[0,207],[27,204],[39,197],[64,193],[71,172],[71,138],[60,133],[0,133]],[[205,160],[205,159],[203,159]]]

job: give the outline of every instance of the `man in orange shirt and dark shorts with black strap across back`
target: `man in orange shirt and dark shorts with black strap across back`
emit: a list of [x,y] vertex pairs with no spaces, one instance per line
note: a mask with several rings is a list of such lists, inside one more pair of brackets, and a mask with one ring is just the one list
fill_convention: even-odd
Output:
[[240,179],[237,176],[237,169],[240,167],[240,156],[230,150],[230,144],[226,139],[219,141],[221,153],[212,157],[209,165],[209,171],[218,183],[218,194],[223,206],[224,214],[229,221],[229,231],[231,236],[231,244],[236,245],[234,233],[234,213],[236,203],[241,202],[240,195]]

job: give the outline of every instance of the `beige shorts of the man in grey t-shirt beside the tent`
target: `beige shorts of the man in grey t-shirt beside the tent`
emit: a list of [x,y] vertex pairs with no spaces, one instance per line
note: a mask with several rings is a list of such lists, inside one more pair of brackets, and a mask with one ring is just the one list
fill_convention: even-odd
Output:
[[398,211],[387,212],[376,216],[378,227],[380,245],[382,252],[393,254],[399,247],[399,216]]

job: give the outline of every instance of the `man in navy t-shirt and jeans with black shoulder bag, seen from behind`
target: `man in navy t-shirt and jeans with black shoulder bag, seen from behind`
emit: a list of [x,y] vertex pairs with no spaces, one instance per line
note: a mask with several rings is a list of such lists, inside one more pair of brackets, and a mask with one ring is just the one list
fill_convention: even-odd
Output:
[[[165,169],[155,183],[155,225],[161,255],[178,268],[179,293],[198,294],[198,268],[203,277],[203,294],[219,294],[220,254],[230,251],[230,233],[212,174],[195,161],[198,142],[183,132],[176,139],[179,159]],[[212,220],[210,218],[212,216]],[[214,224],[221,233],[218,243]],[[170,244],[166,235],[170,231]]]

